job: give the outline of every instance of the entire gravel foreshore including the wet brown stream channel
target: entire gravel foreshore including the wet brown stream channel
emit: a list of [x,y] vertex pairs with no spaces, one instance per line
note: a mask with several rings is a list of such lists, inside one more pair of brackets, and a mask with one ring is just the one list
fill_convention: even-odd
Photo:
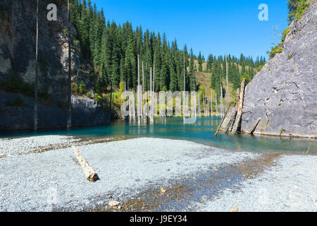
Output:
[[[40,137],[31,139],[37,138],[33,142],[41,143]],[[69,137],[58,138],[80,142]],[[43,141],[53,142],[53,139]],[[263,185],[278,194],[280,182],[284,183],[280,184],[284,189],[300,182],[302,187],[292,189],[292,196],[301,197],[317,191],[316,155],[232,151],[161,138],[95,141],[82,141],[78,145],[80,153],[99,174],[100,180],[95,183],[85,178],[73,150],[68,147],[70,143],[60,149],[11,153],[0,158],[3,179],[0,211],[227,211],[220,207],[229,208],[230,202],[234,205],[234,201],[228,203],[225,198],[231,197],[230,194],[241,197],[238,203],[241,210],[257,211],[261,210],[261,203],[249,209],[246,206],[252,201],[243,202],[246,184],[255,183],[257,189]],[[292,182],[276,179],[283,174],[291,177]],[[272,179],[275,184],[268,185]],[[316,183],[311,184],[312,181]],[[162,188],[166,190],[163,193]],[[49,189],[56,189],[54,204],[47,203]],[[120,202],[120,209],[107,207],[113,200]],[[287,205],[287,199],[282,202]],[[302,198],[299,210],[317,211],[314,205]]]

